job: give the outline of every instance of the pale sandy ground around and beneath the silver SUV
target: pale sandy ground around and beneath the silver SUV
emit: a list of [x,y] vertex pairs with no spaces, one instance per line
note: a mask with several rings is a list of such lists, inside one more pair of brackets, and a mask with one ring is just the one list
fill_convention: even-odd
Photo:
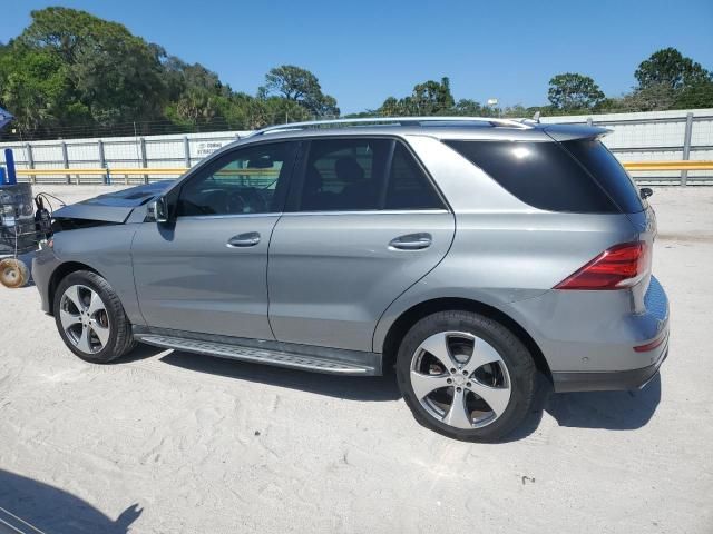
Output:
[[47,533],[710,534],[713,188],[652,200],[672,304],[661,378],[553,395],[497,445],[420,427],[390,377],[148,347],[85,364],[33,287],[0,287],[0,506]]

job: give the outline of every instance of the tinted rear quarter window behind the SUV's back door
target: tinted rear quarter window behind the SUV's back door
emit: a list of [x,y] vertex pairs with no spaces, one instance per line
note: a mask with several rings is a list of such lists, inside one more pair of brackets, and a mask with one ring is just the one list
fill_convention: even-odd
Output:
[[589,174],[557,142],[445,142],[530,206],[584,214],[617,211]]

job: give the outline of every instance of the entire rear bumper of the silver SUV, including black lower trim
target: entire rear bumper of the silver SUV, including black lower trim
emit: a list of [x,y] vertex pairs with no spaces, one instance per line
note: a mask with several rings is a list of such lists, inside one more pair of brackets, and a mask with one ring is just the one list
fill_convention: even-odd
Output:
[[645,385],[668,353],[668,299],[655,277],[618,291],[548,291],[512,303],[556,392],[627,390]]

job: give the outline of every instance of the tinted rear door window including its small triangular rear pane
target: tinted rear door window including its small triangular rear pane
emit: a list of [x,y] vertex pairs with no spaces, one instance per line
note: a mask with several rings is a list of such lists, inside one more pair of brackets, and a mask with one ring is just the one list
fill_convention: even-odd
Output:
[[302,211],[442,207],[413,157],[390,139],[313,140],[301,198]]

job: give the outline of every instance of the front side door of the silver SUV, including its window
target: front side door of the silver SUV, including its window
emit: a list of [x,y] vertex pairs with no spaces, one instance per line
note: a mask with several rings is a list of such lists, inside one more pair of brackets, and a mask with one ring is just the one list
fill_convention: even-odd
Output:
[[140,225],[131,254],[148,326],[274,339],[267,247],[295,147],[258,144],[216,157],[168,194],[172,221]]

